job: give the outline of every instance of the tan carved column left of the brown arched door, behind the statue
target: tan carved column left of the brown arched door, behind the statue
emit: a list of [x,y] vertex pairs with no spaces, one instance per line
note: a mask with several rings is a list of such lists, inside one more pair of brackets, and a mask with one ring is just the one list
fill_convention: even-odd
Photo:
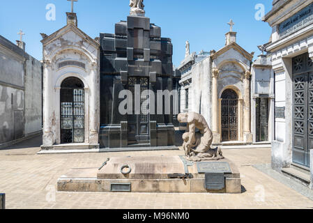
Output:
[[220,134],[218,132],[218,93],[217,93],[217,79],[219,70],[214,68],[212,70],[212,132],[213,132],[213,144],[220,143]]

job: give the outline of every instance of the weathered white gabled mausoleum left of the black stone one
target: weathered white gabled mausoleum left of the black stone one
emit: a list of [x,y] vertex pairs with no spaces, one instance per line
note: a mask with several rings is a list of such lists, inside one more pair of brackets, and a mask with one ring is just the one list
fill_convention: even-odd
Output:
[[43,149],[99,148],[99,43],[67,25],[43,36]]

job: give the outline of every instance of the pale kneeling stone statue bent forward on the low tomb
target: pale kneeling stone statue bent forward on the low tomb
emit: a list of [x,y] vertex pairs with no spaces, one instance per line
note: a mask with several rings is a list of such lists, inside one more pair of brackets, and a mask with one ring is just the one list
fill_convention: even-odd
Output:
[[[188,123],[189,132],[183,134],[186,160],[200,162],[224,159],[220,148],[211,148],[213,134],[206,119],[195,112],[178,114],[180,123]],[[200,132],[196,132],[196,128]]]

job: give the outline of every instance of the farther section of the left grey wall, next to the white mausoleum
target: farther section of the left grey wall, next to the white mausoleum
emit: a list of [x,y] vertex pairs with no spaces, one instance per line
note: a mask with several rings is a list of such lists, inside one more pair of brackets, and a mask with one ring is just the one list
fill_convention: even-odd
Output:
[[25,134],[42,130],[42,63],[29,56],[25,75]]

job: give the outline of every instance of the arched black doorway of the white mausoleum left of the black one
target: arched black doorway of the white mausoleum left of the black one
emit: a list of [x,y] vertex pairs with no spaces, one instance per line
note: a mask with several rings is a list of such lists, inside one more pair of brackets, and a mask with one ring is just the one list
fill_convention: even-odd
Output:
[[61,84],[61,144],[84,142],[84,83],[68,77]]

